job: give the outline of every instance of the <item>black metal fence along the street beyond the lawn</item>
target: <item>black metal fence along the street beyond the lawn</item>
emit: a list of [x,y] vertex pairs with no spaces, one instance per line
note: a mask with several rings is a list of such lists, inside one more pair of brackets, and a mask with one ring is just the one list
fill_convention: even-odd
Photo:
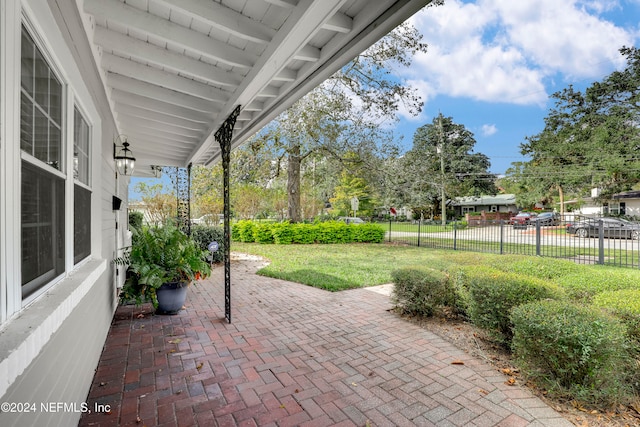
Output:
[[550,221],[382,223],[389,242],[436,249],[537,255],[581,264],[640,268],[640,223],[565,215]]

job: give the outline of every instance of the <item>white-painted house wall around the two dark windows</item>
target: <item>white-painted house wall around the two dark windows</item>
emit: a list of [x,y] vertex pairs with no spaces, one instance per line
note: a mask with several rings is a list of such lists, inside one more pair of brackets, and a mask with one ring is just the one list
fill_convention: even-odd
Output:
[[[27,21],[66,84],[65,114],[72,115],[75,104],[91,127],[92,195],[91,255],[74,265],[73,182],[66,178],[64,272],[25,302],[19,141],[20,32]],[[112,141],[117,130],[83,34],[75,0],[0,1],[0,402],[36,409],[1,412],[2,426],[77,424],[117,303],[110,260],[125,241],[128,180],[116,179]],[[68,162],[73,132],[70,119],[63,123]],[[120,212],[112,211],[113,195],[124,200]]]

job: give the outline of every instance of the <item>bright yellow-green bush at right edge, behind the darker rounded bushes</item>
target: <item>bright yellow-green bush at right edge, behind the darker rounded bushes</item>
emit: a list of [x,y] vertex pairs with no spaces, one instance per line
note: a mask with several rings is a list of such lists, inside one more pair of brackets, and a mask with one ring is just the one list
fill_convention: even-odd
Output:
[[596,294],[622,289],[640,289],[640,273],[615,267],[583,267],[580,273],[559,277],[557,283],[571,299],[590,302]]

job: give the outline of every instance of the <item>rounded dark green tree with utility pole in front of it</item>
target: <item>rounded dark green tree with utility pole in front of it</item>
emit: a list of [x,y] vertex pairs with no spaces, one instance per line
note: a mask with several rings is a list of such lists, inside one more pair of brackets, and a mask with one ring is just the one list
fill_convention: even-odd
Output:
[[439,114],[419,127],[413,147],[399,162],[399,198],[414,207],[438,206],[448,198],[495,194],[495,176],[489,172],[489,158],[474,153],[473,133],[452,117]]

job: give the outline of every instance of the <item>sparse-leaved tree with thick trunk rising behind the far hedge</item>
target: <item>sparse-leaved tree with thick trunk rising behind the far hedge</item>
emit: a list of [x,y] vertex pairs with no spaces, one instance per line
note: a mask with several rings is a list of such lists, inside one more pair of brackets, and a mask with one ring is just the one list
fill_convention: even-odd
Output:
[[[301,219],[301,182],[305,161],[316,157],[340,162],[346,153],[382,151],[389,141],[381,128],[403,105],[419,113],[417,91],[392,75],[425,52],[418,31],[405,23],[367,49],[265,128],[256,140],[280,153],[286,165],[288,216]],[[381,143],[383,142],[383,143]]]

